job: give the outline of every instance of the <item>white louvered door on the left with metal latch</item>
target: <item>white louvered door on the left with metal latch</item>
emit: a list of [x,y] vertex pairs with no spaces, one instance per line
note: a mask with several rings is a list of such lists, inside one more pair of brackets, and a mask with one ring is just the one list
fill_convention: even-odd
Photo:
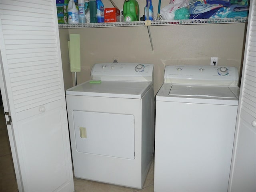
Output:
[[1,92],[19,192],[73,192],[56,1],[1,0],[0,16]]

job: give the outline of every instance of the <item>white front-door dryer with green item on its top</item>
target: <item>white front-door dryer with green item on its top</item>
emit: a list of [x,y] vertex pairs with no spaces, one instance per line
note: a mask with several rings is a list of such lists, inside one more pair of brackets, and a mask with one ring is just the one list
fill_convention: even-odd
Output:
[[142,188],[154,151],[153,64],[95,64],[66,90],[74,176]]

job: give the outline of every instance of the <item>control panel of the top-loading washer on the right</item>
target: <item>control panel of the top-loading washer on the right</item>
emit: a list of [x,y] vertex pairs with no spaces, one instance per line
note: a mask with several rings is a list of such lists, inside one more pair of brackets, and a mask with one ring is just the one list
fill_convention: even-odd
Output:
[[229,66],[172,65],[165,68],[164,82],[237,86],[238,70]]

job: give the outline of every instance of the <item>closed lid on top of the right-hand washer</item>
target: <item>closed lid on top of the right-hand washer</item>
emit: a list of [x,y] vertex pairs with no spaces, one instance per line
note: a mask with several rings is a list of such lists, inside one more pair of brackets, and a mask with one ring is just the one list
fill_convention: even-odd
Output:
[[233,98],[236,96],[228,87],[194,86],[173,84],[169,95],[204,98]]

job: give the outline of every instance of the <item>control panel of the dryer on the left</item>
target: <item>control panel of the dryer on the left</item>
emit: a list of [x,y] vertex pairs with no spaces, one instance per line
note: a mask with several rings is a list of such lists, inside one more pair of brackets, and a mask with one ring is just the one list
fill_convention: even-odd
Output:
[[92,80],[153,81],[154,65],[145,63],[97,63],[91,71]]

